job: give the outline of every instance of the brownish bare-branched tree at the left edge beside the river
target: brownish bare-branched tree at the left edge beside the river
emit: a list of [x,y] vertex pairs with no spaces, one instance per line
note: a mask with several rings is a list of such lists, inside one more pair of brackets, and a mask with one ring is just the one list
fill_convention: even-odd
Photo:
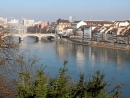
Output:
[[0,27],[0,97],[11,97],[16,95],[12,73],[15,72],[13,60],[16,55],[18,45],[14,43],[12,36],[4,38],[9,33],[9,28]]

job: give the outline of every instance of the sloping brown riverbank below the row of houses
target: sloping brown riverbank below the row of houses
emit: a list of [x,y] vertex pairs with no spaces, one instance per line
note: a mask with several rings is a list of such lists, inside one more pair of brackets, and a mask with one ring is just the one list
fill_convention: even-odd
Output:
[[82,40],[66,39],[66,38],[57,39],[56,41],[67,42],[67,43],[77,44],[77,45],[88,45],[92,47],[102,47],[102,48],[130,51],[130,45],[127,44],[97,42],[97,41],[82,41]]

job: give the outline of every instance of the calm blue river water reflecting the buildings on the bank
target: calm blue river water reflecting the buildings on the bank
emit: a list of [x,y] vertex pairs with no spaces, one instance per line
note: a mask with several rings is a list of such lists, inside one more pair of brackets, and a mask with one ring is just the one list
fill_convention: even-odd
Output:
[[[90,46],[60,43],[55,41],[35,42],[34,38],[27,37],[20,43],[20,49],[28,48],[31,55],[37,55],[41,60],[39,66],[47,66],[46,72],[55,76],[64,60],[68,60],[67,67],[72,77],[78,80],[80,72],[90,74],[101,70],[105,73],[106,81],[114,78],[113,84],[130,83],[130,52],[97,48]],[[130,98],[130,86],[122,87],[123,96]]]

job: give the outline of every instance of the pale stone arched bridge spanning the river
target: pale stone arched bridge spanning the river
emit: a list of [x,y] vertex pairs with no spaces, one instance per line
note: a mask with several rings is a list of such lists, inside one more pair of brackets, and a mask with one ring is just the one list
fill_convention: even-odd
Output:
[[16,37],[19,37],[19,40],[22,41],[24,37],[27,37],[27,36],[34,36],[36,37],[37,40],[41,40],[42,37],[49,37],[49,36],[52,36],[55,38],[55,34],[41,34],[41,33],[34,33],[34,34],[31,34],[31,33],[24,33],[24,34],[4,34],[2,36],[2,38],[5,38],[7,36],[16,36]]

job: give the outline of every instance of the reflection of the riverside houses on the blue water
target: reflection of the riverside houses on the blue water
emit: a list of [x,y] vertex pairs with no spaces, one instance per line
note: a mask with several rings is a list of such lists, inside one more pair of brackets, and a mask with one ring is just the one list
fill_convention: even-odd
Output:
[[100,64],[116,67],[127,66],[130,62],[128,59],[130,57],[129,52],[59,42],[56,42],[56,53],[62,61],[68,59],[69,56],[73,56],[78,68],[84,68],[86,61],[92,66]]

